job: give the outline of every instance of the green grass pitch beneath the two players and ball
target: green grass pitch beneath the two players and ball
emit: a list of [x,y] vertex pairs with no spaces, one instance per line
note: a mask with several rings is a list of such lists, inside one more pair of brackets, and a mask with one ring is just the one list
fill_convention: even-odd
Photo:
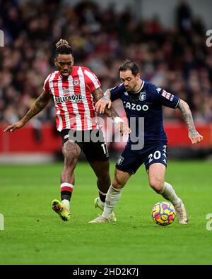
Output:
[[[100,210],[95,175],[76,167],[71,220],[52,211],[62,164],[0,167],[0,264],[212,264],[212,163],[169,162],[166,181],[183,198],[189,225],[160,227],[151,208],[164,199],[148,186],[144,167],[131,177],[115,212],[118,221],[88,224]],[[113,177],[114,164],[110,166]],[[212,225],[211,225],[212,227]]]

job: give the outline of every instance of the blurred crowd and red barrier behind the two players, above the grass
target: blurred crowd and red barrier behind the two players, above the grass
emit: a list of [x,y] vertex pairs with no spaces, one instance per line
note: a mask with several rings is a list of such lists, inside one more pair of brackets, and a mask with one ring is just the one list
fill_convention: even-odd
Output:
[[[189,103],[199,146],[187,138],[178,109],[164,108],[170,158],[210,158],[212,150],[211,1],[0,1],[0,162],[62,160],[55,130],[54,107],[48,107],[14,134],[7,124],[18,121],[54,71],[55,42],[71,42],[76,65],[88,66],[102,89],[119,84],[117,69],[126,57],[141,68],[142,78]],[[114,107],[124,117],[122,104]],[[110,138],[110,136],[109,136]],[[112,135],[111,135],[112,138]],[[107,143],[111,158],[124,143]],[[83,159],[83,156],[81,157]]]

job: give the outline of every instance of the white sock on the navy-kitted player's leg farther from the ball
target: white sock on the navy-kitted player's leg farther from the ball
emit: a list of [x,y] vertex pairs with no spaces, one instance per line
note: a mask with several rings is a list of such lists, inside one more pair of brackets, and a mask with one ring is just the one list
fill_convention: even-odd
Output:
[[106,219],[110,219],[110,215],[112,213],[114,206],[119,201],[119,198],[121,198],[122,189],[116,189],[112,185],[108,189],[107,196],[105,199],[105,208],[102,213],[102,216],[105,217]]

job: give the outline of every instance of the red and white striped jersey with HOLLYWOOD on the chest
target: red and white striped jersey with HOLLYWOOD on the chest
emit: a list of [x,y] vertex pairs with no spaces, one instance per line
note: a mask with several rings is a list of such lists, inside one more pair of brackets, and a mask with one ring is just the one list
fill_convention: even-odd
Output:
[[43,90],[54,97],[58,131],[99,129],[91,93],[100,86],[95,74],[81,66],[73,66],[69,78],[59,71],[47,76]]

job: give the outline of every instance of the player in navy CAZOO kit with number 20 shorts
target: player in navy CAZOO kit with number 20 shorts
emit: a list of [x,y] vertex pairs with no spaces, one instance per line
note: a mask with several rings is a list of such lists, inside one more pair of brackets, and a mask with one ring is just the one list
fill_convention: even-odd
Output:
[[[130,60],[124,61],[119,67],[119,77],[122,83],[107,90],[104,97],[96,103],[96,109],[102,113],[105,107],[110,107],[112,101],[121,99],[131,133],[124,151],[117,160],[114,180],[107,192],[104,211],[101,216],[90,222],[110,221],[112,210],[119,201],[124,185],[131,174],[135,174],[144,164],[150,186],[156,193],[172,202],[178,222],[186,225],[188,217],[184,203],[172,185],[164,181],[167,167],[167,136],[163,128],[162,107],[179,108],[188,126],[190,140],[192,143],[199,143],[203,137],[195,129],[189,105],[172,93],[167,93],[163,88],[143,81],[139,67]],[[139,126],[140,119],[144,119],[143,129]],[[132,134],[136,136],[131,138]],[[136,144],[135,138],[142,138],[143,144]]]

